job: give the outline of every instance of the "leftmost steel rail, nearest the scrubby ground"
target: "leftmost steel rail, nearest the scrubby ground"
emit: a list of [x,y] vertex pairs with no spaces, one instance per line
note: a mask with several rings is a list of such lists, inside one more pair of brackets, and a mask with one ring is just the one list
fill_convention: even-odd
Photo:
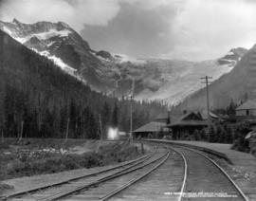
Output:
[[[52,188],[52,187],[56,187],[56,186],[61,186],[61,185],[70,183],[72,181],[76,181],[76,180],[79,180],[79,179],[82,179],[82,178],[86,178],[86,177],[89,177],[89,176],[98,175],[98,174],[104,174],[104,173],[107,173],[107,172],[110,172],[110,171],[114,171],[116,169],[119,169],[119,168],[122,168],[122,167],[126,167],[126,166],[131,165],[131,164],[133,164],[133,165],[132,166],[128,166],[128,169],[129,168],[133,168],[133,167],[137,166],[138,164],[141,164],[144,161],[146,161],[147,159],[149,159],[152,155],[155,155],[156,149],[157,149],[157,147],[155,146],[155,149],[154,149],[153,153],[148,154],[148,155],[143,155],[141,157],[138,157],[138,158],[136,158],[134,160],[127,161],[126,163],[120,164],[120,165],[115,166],[115,167],[110,167],[110,168],[101,170],[101,171],[96,172],[96,173],[82,174],[80,176],[76,176],[76,177],[73,177],[71,179],[66,179],[64,181],[56,182],[56,183],[53,183],[53,184],[50,184],[50,185],[46,185],[46,186],[43,186],[43,187],[33,188],[33,189],[28,190],[28,191],[14,192],[13,194],[9,194],[9,195],[2,196],[2,197],[0,196],[0,199],[1,200],[8,200],[9,198],[14,198],[14,197],[17,197],[17,196],[29,194],[31,192],[38,192],[38,191],[42,191],[42,190],[45,190],[45,189],[48,189],[48,188]],[[126,168],[125,168],[125,170],[126,170]]]

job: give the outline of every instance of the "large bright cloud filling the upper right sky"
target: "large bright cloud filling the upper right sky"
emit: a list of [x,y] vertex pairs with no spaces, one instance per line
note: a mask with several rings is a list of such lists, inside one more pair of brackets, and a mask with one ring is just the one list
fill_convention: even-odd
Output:
[[206,60],[256,43],[256,6],[243,0],[188,0],[170,26],[174,49],[165,57]]

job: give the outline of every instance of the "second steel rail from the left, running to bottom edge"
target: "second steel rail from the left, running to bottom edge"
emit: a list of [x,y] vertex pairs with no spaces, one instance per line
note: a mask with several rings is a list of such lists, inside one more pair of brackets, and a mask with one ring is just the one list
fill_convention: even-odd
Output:
[[81,191],[84,190],[84,189],[88,189],[88,188],[90,188],[90,187],[92,187],[92,186],[99,185],[99,184],[101,184],[102,182],[105,182],[105,181],[114,179],[114,178],[119,177],[119,176],[121,176],[121,175],[130,174],[130,173],[132,173],[132,172],[135,172],[135,171],[137,171],[137,170],[139,170],[139,169],[142,169],[142,168],[144,168],[144,167],[146,167],[146,166],[148,166],[148,165],[151,165],[151,164],[155,163],[155,161],[162,159],[165,155],[168,155],[168,153],[169,153],[169,152],[165,153],[164,155],[160,155],[160,156],[157,157],[156,159],[154,159],[154,160],[152,160],[152,161],[150,161],[150,162],[148,162],[148,163],[142,164],[142,165],[140,165],[140,166],[138,166],[138,167],[135,167],[135,168],[132,169],[132,170],[128,170],[128,169],[131,169],[131,168],[127,168],[127,169],[121,170],[121,171],[119,171],[118,173],[104,176],[103,178],[98,179],[98,180],[96,180],[96,181],[93,181],[93,182],[91,182],[91,183],[89,183],[89,184],[86,184],[86,185],[82,185],[82,186],[80,186],[80,187],[73,188],[73,189],[71,189],[71,190],[69,190],[69,191],[56,193],[56,194],[54,194],[54,195],[51,195],[51,196],[49,196],[49,197],[46,197],[46,199],[44,199],[44,198],[43,198],[43,199],[40,199],[40,201],[52,201],[52,200],[57,200],[57,199],[60,199],[60,198],[64,198],[64,197],[69,196],[69,195],[71,195],[71,194],[73,194],[73,193],[81,192]]

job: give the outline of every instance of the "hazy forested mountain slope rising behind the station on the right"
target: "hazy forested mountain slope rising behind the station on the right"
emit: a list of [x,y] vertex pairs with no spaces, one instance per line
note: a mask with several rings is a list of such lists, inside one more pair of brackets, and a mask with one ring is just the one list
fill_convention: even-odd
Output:
[[[241,100],[256,98],[256,46],[253,46],[242,57],[240,62],[220,79],[210,84],[210,105],[212,108],[226,107],[232,100],[239,103]],[[179,107],[204,108],[206,90],[193,94],[179,104]]]

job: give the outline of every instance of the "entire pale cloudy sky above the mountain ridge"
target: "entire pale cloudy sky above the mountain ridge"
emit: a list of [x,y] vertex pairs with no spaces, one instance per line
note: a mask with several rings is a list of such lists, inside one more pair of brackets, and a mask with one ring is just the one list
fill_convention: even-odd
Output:
[[0,19],[14,17],[63,21],[92,48],[135,57],[207,60],[256,43],[254,0],[0,0]]

